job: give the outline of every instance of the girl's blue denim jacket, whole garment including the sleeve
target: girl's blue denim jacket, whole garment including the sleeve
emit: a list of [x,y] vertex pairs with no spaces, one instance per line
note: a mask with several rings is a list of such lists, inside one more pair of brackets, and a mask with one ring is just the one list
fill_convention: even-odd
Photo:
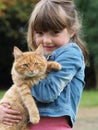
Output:
[[47,57],[62,65],[60,71],[52,71],[47,78],[32,87],[41,116],[68,115],[73,126],[84,88],[85,63],[81,49],[69,42]]

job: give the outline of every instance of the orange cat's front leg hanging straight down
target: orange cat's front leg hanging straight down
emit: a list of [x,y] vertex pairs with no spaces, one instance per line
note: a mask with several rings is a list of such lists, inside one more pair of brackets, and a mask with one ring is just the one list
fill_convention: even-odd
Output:
[[31,91],[29,87],[26,84],[23,84],[21,87],[17,87],[17,88],[23,100],[24,105],[28,110],[30,122],[33,124],[39,123],[40,120],[39,111],[31,95]]

